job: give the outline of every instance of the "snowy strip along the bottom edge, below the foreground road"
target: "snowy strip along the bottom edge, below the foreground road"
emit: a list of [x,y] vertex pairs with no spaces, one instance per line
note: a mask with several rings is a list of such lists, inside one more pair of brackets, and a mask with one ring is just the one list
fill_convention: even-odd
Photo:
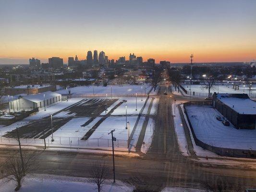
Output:
[[[0,192],[13,192],[14,181],[0,180]],[[97,185],[87,178],[33,174],[25,177],[19,192],[96,192]],[[102,192],[132,192],[133,187],[120,180],[107,180]]]

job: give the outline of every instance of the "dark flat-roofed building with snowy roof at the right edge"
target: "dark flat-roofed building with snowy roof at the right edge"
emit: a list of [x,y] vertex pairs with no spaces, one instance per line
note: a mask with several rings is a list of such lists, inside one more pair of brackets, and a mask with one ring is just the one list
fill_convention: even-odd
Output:
[[256,129],[256,102],[247,94],[213,94],[216,108],[237,129]]

